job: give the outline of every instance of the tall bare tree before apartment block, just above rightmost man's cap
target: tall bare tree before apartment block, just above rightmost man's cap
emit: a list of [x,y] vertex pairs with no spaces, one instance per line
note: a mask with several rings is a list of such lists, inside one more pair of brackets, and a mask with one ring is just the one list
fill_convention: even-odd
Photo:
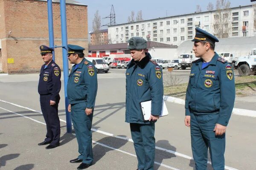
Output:
[[231,9],[229,0],[216,0],[213,29],[218,38],[227,38],[231,33]]

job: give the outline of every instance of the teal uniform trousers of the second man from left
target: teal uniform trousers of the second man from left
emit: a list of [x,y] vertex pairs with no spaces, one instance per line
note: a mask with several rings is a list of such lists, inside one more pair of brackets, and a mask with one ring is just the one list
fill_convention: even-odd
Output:
[[71,119],[73,127],[76,131],[76,139],[78,143],[78,159],[82,159],[83,163],[93,164],[93,147],[92,147],[92,121],[93,113],[89,116],[85,113],[86,103],[71,104]]

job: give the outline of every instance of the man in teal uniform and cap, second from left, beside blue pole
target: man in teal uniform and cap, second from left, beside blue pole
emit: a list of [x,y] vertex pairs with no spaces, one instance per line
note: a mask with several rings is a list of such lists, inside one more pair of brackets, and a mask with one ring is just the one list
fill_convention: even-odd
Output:
[[67,83],[68,111],[78,142],[78,158],[71,163],[82,162],[78,170],[83,170],[93,164],[92,121],[93,108],[97,94],[97,71],[93,63],[84,58],[84,48],[78,45],[68,46],[68,59],[75,64],[70,72]]

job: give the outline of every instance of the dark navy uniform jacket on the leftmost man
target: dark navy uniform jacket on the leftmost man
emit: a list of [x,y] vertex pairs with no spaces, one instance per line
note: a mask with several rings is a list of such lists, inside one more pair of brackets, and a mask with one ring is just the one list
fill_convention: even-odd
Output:
[[46,68],[45,64],[42,65],[38,83],[39,94],[50,94],[51,100],[56,101],[61,90],[61,69],[52,60]]

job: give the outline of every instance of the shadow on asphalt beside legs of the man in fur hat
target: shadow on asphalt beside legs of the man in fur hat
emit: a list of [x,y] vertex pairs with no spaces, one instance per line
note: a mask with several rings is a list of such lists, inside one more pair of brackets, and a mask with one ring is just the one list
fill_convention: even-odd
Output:
[[[156,146],[164,146],[164,148],[176,152],[176,147],[172,146],[168,140],[159,140],[156,142]],[[171,159],[173,157],[176,157],[175,154],[165,152],[163,150],[158,150],[158,149],[156,149],[155,155],[156,155],[155,161],[157,161],[159,163],[163,163],[164,159]],[[159,167],[160,167],[160,165],[158,165],[158,164],[154,165],[155,170],[158,170]]]

